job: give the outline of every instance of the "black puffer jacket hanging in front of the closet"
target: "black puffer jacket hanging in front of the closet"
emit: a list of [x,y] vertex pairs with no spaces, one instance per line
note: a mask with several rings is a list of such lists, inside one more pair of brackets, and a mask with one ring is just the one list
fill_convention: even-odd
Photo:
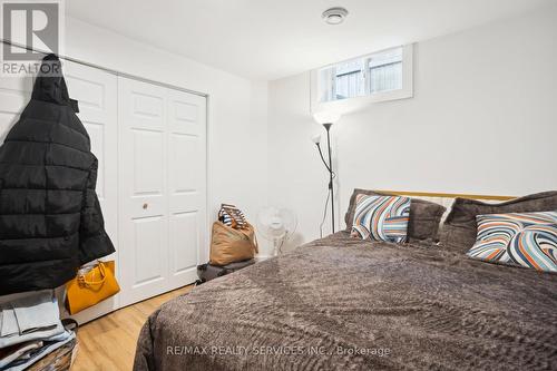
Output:
[[[58,64],[53,55],[45,62]],[[97,158],[63,77],[39,76],[0,147],[0,295],[53,289],[114,252],[95,193]]]

